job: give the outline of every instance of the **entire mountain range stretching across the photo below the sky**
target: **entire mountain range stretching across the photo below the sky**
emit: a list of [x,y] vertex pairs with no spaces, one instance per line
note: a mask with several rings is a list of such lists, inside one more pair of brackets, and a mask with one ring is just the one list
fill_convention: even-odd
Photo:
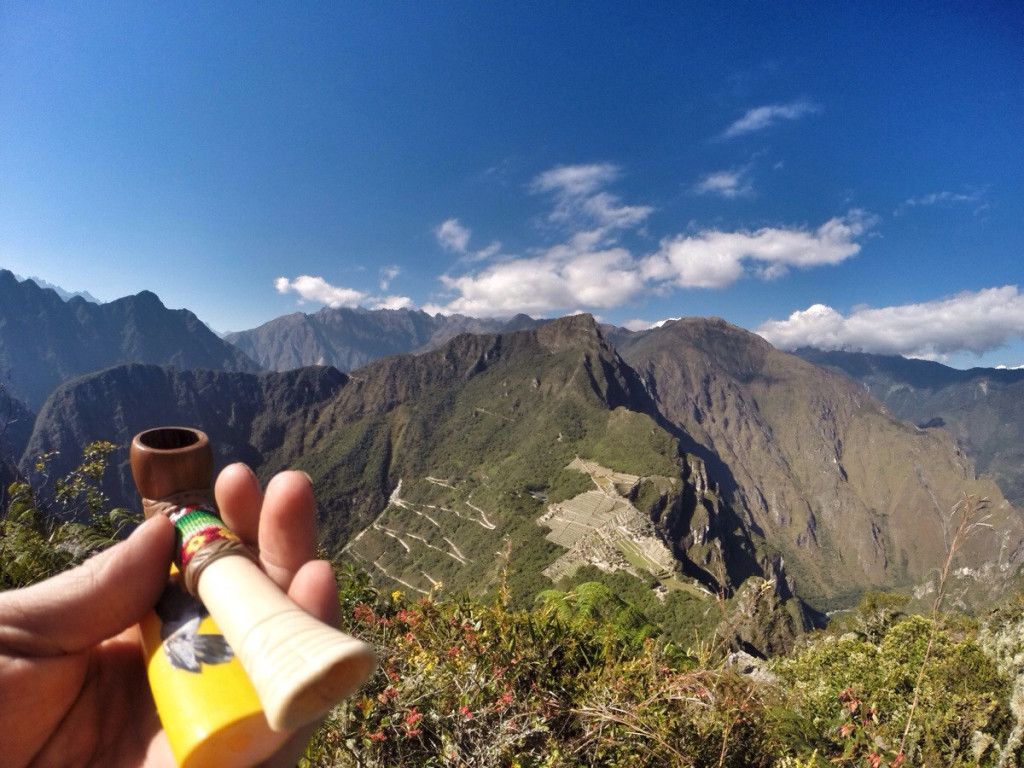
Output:
[[[75,299],[68,314],[55,294],[14,285],[24,287],[17,328],[32,317],[47,329],[69,317],[98,325]],[[902,420],[894,401],[835,362],[780,352],[723,321],[631,333],[589,315],[494,327],[325,310],[257,329],[243,353],[153,294],[120,301],[117,311],[99,305],[106,328],[123,318],[122,337],[108,341],[120,356],[55,385],[31,434],[17,432],[23,472],[51,452],[54,474],[68,471],[87,442],[108,439],[122,451],[105,489],[133,506],[131,435],[193,425],[210,434],[221,465],[246,461],[264,478],[306,470],[325,545],[382,587],[484,593],[504,581],[528,600],[603,581],[680,632],[717,624],[724,598],[743,606],[727,633],[762,653],[866,590],[927,597],[964,494],[988,498],[990,516],[961,553],[956,594],[965,605],[990,603],[1019,577],[1020,513],[990,476],[976,476],[954,433]],[[17,350],[10,327],[0,321],[4,360],[29,365],[34,349],[50,377],[74,370],[55,359],[63,347],[45,347],[58,334],[23,332],[35,346]],[[293,340],[289,327],[302,329]],[[361,335],[345,342],[345,327]],[[335,329],[330,343],[325,328]],[[326,359],[346,343],[369,361],[347,372],[259,371],[254,361],[286,367],[285,349]],[[148,357],[124,360],[132,350]],[[32,380],[7,371],[8,382]],[[937,391],[956,383],[941,381]],[[10,399],[17,391],[8,384],[9,408],[23,409],[12,424],[24,424],[31,410]],[[971,426],[955,413],[926,421]]]

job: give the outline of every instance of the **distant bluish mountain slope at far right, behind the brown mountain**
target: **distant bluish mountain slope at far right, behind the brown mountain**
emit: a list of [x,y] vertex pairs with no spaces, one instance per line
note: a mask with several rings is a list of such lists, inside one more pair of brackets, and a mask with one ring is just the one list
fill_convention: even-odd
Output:
[[839,371],[900,419],[941,427],[1024,508],[1024,371],[959,371],[930,360],[799,349],[804,359]]

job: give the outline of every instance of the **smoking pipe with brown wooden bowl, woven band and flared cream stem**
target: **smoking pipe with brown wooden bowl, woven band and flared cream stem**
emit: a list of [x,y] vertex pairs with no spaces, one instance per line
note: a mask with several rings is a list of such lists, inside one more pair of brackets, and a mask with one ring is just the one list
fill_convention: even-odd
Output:
[[318,720],[362,685],[376,664],[373,648],[292,602],[221,522],[206,434],[151,429],[135,436],[130,455],[145,516],[174,522],[184,586],[220,627],[270,728],[290,731]]

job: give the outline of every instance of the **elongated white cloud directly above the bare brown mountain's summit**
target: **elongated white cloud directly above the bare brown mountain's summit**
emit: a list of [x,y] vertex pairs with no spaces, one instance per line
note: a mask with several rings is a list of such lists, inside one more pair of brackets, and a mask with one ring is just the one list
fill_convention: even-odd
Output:
[[748,271],[765,280],[786,273],[790,267],[833,265],[860,251],[856,238],[871,226],[873,217],[854,210],[833,218],[813,232],[766,227],[755,232],[717,229],[662,241],[662,249],[642,262],[649,281],[680,288],[725,288]]

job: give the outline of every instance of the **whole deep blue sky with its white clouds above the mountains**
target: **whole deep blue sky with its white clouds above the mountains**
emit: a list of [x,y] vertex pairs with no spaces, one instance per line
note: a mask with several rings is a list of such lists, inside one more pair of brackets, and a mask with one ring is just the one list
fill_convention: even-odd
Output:
[[1024,5],[0,4],[0,266],[220,332],[717,315],[1024,364]]

